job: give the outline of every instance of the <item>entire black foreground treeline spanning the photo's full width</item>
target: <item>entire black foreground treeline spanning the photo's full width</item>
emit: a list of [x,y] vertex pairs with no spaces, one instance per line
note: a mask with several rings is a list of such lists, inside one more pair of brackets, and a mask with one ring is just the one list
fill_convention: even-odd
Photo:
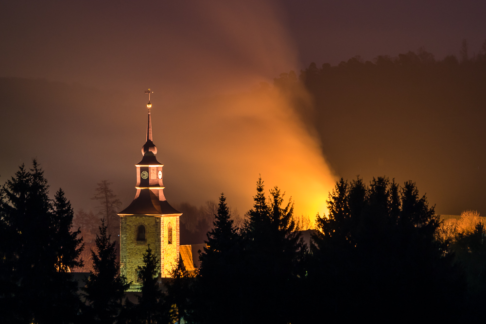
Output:
[[[269,195],[268,195],[269,194]],[[179,261],[157,280],[150,246],[136,303],[126,298],[116,241],[102,220],[81,290],[69,271],[84,246],[62,190],[54,200],[36,162],[1,188],[0,306],[7,323],[322,323],[469,321],[486,301],[486,234],[444,236],[416,185],[341,179],[312,240],[295,231],[293,202],[257,182],[235,226],[221,195],[196,273]]]

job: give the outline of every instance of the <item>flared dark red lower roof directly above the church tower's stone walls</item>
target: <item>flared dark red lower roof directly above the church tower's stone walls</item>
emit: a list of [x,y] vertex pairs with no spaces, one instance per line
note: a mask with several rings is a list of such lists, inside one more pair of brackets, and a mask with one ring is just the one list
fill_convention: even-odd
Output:
[[181,214],[166,200],[160,201],[150,189],[141,189],[133,202],[118,215],[170,215]]

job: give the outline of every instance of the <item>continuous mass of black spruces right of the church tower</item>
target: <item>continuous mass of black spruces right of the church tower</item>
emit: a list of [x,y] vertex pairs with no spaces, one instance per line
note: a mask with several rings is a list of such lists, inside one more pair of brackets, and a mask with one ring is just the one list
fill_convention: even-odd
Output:
[[436,239],[438,216],[414,183],[339,181],[310,250],[278,188],[267,199],[259,180],[254,201],[237,235],[220,199],[193,286],[199,322],[451,321],[470,309],[463,273]]

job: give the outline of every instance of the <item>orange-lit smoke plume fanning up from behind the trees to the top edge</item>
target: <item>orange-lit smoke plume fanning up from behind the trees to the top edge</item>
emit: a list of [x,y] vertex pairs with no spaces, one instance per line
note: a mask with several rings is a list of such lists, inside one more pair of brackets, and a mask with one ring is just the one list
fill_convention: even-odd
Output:
[[[266,1],[245,5],[209,1],[196,8],[204,12],[205,23],[222,31],[225,46],[248,64],[228,60],[226,51],[208,53],[193,43],[188,48],[181,45],[203,63],[201,75],[219,72],[211,80],[194,79],[199,82],[195,87],[204,89],[204,98],[196,92],[176,94],[174,101],[164,102],[163,113],[152,116],[154,128],[163,131],[154,133],[154,142],[164,143],[165,156],[170,157],[164,163],[180,166],[168,173],[172,179],[167,179],[166,194],[173,195],[171,202],[174,197],[203,205],[217,201],[224,192],[228,204],[243,215],[253,205],[261,175],[267,195],[278,186],[286,192],[286,201],[292,197],[295,215],[313,221],[317,212],[327,214],[326,200],[336,177],[315,130],[299,119],[293,106],[298,102],[311,110],[312,98],[303,88],[296,89],[295,98],[286,97],[268,78],[291,69],[298,74],[300,69],[298,52],[278,10]],[[156,125],[159,120],[163,128]]]

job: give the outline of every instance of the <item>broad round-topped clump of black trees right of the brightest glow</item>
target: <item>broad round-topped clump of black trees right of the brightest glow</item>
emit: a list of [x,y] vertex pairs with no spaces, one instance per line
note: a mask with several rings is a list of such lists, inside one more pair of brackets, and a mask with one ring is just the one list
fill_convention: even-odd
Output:
[[458,319],[463,276],[435,239],[438,216],[414,183],[341,179],[328,206],[313,236],[310,309],[320,305],[335,321]]

